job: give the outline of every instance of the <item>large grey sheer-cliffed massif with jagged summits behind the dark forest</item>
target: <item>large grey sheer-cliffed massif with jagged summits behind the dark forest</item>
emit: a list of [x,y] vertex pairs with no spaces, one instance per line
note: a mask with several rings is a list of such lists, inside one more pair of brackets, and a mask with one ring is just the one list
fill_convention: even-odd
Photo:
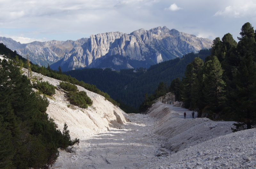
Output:
[[61,60],[51,65],[63,71],[81,68],[150,67],[166,60],[211,48],[212,40],[168,29],[166,26],[140,29],[130,34],[108,32],[91,35],[82,46],[74,47]]

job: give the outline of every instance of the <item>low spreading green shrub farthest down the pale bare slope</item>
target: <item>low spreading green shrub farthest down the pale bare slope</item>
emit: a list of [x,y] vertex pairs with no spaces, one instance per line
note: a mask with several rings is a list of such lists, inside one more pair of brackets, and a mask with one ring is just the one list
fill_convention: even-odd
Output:
[[81,108],[86,109],[89,106],[92,105],[92,100],[90,97],[87,96],[85,91],[80,91],[80,92],[69,92],[67,94],[68,100],[71,104],[79,106]]

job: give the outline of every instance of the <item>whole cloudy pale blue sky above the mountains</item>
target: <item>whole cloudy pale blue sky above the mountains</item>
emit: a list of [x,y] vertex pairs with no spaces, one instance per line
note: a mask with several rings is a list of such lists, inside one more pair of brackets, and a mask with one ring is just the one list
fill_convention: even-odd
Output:
[[256,29],[256,0],[0,0],[0,36],[20,43],[158,26],[238,41],[246,22]]

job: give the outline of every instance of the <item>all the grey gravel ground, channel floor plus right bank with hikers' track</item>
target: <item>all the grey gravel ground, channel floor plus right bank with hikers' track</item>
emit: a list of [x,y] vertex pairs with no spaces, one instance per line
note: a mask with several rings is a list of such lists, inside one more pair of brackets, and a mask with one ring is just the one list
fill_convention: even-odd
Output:
[[188,110],[184,119],[184,110],[158,102],[147,115],[128,114],[124,129],[83,140],[73,153],[61,151],[53,168],[256,168],[256,129],[232,133],[234,122],[192,119]]

